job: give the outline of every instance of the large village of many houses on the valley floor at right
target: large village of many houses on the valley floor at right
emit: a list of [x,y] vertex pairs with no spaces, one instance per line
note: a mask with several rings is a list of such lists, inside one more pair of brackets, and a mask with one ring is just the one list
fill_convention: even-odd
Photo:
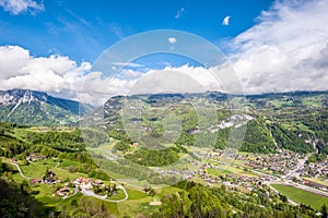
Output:
[[[226,162],[221,160],[222,154],[222,150],[211,153],[198,170],[171,169],[169,171],[162,170],[161,173],[183,175],[188,180],[200,179],[209,186],[223,184],[231,187],[244,187],[248,191],[271,183],[304,185],[304,187],[324,192],[328,190],[328,184],[320,181],[327,179],[328,160],[307,162],[305,155],[283,150],[280,154],[261,156],[238,154],[234,157],[234,161]],[[201,155],[206,156],[206,154]],[[194,165],[198,164],[194,162]]]

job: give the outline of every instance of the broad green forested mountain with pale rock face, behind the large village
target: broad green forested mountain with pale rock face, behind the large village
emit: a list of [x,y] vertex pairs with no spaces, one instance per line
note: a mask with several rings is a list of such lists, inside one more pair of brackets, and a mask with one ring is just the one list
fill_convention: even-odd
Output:
[[[327,99],[328,92],[116,96],[104,105],[104,116],[109,135],[127,144],[132,140],[161,146],[160,141],[168,143],[167,136],[177,145],[224,148],[231,142],[230,146],[243,152],[328,154]],[[231,141],[231,131],[245,124],[243,142]],[[177,131],[179,134],[174,135]]]

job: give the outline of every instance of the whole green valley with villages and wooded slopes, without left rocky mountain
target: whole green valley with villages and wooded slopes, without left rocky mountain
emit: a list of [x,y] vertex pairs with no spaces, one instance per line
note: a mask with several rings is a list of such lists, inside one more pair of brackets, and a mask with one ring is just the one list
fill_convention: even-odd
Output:
[[2,185],[39,217],[320,216],[327,95],[114,97],[103,120],[2,122]]

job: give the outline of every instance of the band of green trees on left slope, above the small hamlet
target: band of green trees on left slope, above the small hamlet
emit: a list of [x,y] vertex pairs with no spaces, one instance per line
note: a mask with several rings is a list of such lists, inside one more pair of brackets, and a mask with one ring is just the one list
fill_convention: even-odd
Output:
[[32,132],[26,130],[23,140],[14,136],[17,125],[13,123],[0,123],[0,156],[23,160],[28,164],[26,157],[31,154],[42,154],[46,158],[69,159],[81,164],[73,167],[71,172],[82,172],[89,177],[108,180],[109,177],[98,169],[94,159],[85,150],[83,138],[79,130],[70,132]]

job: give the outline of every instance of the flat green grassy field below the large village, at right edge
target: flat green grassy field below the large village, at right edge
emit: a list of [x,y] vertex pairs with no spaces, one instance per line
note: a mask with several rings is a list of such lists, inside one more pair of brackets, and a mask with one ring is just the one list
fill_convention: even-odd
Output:
[[316,210],[320,210],[323,205],[328,205],[328,197],[324,197],[321,195],[317,195],[290,185],[272,184],[272,186],[292,201],[298,204],[302,203],[309,205]]

